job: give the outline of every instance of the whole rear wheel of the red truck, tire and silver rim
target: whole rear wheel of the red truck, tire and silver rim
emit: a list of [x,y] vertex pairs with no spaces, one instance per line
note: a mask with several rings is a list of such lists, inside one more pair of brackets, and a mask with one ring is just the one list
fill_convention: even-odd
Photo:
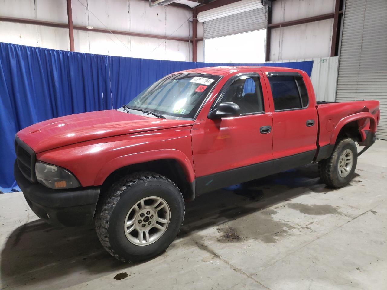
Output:
[[328,186],[340,188],[351,181],[358,162],[358,151],[351,138],[336,143],[328,159],[319,162],[322,181]]

